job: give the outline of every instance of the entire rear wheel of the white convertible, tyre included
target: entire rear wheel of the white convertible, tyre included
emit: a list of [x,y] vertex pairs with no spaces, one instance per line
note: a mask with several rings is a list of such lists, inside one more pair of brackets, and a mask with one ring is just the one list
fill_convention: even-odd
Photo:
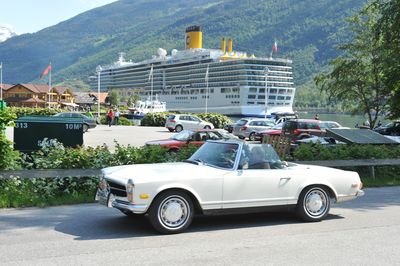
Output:
[[328,215],[329,209],[329,193],[322,187],[312,186],[301,192],[296,212],[304,221],[319,222]]

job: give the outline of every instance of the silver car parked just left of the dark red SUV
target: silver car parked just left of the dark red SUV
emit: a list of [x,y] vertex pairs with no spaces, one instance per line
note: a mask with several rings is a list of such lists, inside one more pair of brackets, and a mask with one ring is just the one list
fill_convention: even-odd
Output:
[[275,122],[264,118],[242,118],[233,126],[232,134],[240,139],[256,140],[256,133],[269,129]]

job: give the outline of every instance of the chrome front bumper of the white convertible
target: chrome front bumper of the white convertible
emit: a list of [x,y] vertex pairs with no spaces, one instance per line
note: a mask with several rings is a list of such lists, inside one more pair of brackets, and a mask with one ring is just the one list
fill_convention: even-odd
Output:
[[109,208],[116,208],[119,210],[130,211],[137,214],[143,214],[147,211],[148,205],[134,204],[127,200],[127,198],[118,197],[111,194],[107,190],[97,189],[96,201]]

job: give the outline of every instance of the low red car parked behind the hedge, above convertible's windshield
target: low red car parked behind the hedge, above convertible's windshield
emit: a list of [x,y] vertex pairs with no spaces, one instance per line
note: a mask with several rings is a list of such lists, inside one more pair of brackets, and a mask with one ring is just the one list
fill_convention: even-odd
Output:
[[201,146],[208,140],[228,139],[228,135],[215,129],[202,130],[182,130],[169,139],[152,140],[146,142],[146,145],[160,145],[168,148],[170,151],[178,151],[181,147],[189,144]]

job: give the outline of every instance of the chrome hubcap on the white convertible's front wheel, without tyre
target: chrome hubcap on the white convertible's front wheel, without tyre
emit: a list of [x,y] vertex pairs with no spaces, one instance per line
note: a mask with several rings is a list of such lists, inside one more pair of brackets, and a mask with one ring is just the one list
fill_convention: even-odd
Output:
[[160,204],[158,219],[168,228],[179,229],[188,220],[188,206],[187,201],[180,196],[168,197]]

